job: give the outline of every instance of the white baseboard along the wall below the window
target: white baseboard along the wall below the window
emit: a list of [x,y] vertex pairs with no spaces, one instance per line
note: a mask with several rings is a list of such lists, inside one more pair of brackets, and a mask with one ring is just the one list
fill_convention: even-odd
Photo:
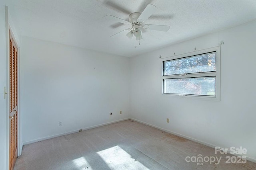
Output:
[[[197,139],[194,139],[194,138],[191,138],[191,137],[188,137],[188,136],[185,136],[185,135],[181,135],[180,133],[176,133],[176,132],[173,132],[173,131],[168,131],[167,129],[163,129],[163,128],[158,127],[158,126],[151,125],[151,124],[146,123],[146,122],[144,122],[144,121],[140,121],[140,120],[133,119],[133,118],[130,118],[130,119],[133,120],[133,121],[137,121],[137,122],[139,122],[139,123],[142,123],[142,124],[145,124],[145,125],[154,127],[154,128],[156,128],[156,129],[159,129],[159,130],[162,130],[162,131],[171,133],[171,134],[173,134],[173,135],[177,135],[177,136],[179,136],[179,137],[183,137],[183,138],[188,139],[188,140],[190,140],[190,141],[194,141],[194,142],[200,143],[200,144],[202,144],[202,145],[206,145],[206,146],[211,147],[211,148],[220,147],[220,146],[212,145],[212,144],[210,144],[210,143],[206,143],[206,142],[204,142],[204,141],[199,141],[199,140],[197,140]],[[224,148],[224,147],[222,147],[222,148]],[[227,152],[230,153],[230,150],[228,150]],[[246,156],[246,155],[242,155],[242,154],[233,154],[233,155],[235,155],[235,156]],[[256,163],[256,159],[255,159],[255,158],[251,158],[251,157],[249,157],[249,156],[246,156],[246,160],[249,160],[249,161],[252,161],[252,162],[255,162],[255,163]]]

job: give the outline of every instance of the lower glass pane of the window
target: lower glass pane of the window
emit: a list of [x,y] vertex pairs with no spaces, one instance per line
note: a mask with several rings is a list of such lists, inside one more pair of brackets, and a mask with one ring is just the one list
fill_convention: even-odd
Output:
[[216,77],[164,79],[164,93],[216,96]]

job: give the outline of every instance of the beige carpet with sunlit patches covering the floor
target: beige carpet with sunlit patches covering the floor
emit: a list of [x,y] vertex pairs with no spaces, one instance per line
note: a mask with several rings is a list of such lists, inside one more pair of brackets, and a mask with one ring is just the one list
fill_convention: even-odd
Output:
[[[186,162],[198,154],[222,159]],[[205,145],[128,120],[25,145],[14,170],[256,169],[250,161],[226,164],[226,156],[232,155],[214,154]]]

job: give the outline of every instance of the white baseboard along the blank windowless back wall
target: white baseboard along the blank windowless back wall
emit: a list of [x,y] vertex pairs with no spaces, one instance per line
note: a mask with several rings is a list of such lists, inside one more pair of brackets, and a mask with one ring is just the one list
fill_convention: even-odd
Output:
[[[120,119],[120,120],[117,120],[117,121],[111,121],[111,122],[108,122],[108,123],[102,123],[102,124],[99,124],[99,125],[95,125],[95,126],[90,126],[90,127],[86,127],[84,129],[82,129],[83,131],[85,130],[88,130],[88,129],[93,129],[95,127],[100,127],[100,126],[105,126],[105,125],[109,125],[109,124],[112,124],[112,123],[117,123],[117,122],[120,122],[120,121],[125,121],[125,120],[129,120],[130,118],[126,118],[126,119]],[[39,142],[39,141],[44,141],[46,139],[51,139],[51,138],[54,138],[54,137],[60,137],[60,136],[63,136],[63,135],[69,135],[71,133],[76,133],[76,132],[79,132],[79,129],[78,130],[75,130],[75,131],[69,131],[69,132],[66,132],[66,133],[60,133],[58,135],[52,135],[52,136],[48,136],[48,137],[43,137],[43,138],[38,138],[38,139],[35,139],[35,140],[31,140],[31,141],[26,141],[26,142],[22,142],[22,147],[24,145],[28,145],[30,143],[35,143],[35,142]]]

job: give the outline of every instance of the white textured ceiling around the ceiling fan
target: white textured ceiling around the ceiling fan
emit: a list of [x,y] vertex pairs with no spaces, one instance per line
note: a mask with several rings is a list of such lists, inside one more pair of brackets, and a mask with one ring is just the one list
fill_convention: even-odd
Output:
[[[146,30],[141,45],[126,37],[128,20],[148,4],[158,7],[148,24],[170,25],[168,32]],[[256,0],[8,0],[21,35],[126,57],[136,56],[256,19]]]

